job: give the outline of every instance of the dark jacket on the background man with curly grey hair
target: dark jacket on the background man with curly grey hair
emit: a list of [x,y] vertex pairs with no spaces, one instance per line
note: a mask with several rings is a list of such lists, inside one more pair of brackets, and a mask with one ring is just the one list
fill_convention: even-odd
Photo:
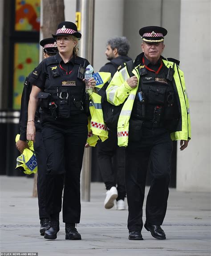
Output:
[[124,62],[131,61],[132,59],[128,56],[118,56],[111,60],[110,62],[106,63],[104,66],[101,67],[100,72],[110,72],[111,77],[117,72],[118,66],[122,65]]

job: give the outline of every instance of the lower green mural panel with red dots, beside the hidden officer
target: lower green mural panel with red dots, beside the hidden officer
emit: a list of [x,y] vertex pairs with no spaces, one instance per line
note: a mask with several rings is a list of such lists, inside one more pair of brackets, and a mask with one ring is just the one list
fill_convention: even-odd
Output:
[[19,110],[21,94],[26,76],[39,63],[39,44],[15,43],[14,46],[14,80],[13,80],[13,109]]

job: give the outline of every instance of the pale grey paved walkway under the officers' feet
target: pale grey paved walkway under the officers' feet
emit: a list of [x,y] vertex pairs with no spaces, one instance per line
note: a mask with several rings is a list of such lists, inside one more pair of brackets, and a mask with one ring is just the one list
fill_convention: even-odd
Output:
[[162,225],[167,239],[156,240],[143,228],[144,240],[131,241],[127,210],[104,209],[104,184],[92,183],[91,202],[81,203],[77,229],[82,240],[65,240],[61,216],[57,240],[45,240],[39,235],[38,204],[37,198],[32,198],[32,186],[33,179],[0,176],[1,252],[38,252],[38,256],[211,256],[210,193],[170,189]]

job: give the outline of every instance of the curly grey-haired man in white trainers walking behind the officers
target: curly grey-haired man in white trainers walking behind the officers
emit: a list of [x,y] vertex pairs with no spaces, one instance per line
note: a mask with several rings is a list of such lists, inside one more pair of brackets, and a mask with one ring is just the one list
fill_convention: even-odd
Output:
[[[129,49],[130,42],[126,37],[114,37],[107,41],[105,55],[110,62],[101,67],[100,72],[110,72],[113,77],[120,65],[131,60],[127,56]],[[108,136],[105,142],[97,143],[97,159],[107,190],[104,207],[112,208],[116,199],[117,210],[125,210],[125,152],[124,148],[118,147],[116,132],[109,130]]]

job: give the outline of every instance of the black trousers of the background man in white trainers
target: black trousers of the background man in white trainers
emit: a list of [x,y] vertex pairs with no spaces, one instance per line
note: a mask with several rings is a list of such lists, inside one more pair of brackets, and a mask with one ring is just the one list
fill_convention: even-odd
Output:
[[110,190],[117,184],[117,200],[124,200],[125,148],[118,146],[116,133],[109,130],[109,137],[104,142],[97,142],[97,161],[106,189]]

